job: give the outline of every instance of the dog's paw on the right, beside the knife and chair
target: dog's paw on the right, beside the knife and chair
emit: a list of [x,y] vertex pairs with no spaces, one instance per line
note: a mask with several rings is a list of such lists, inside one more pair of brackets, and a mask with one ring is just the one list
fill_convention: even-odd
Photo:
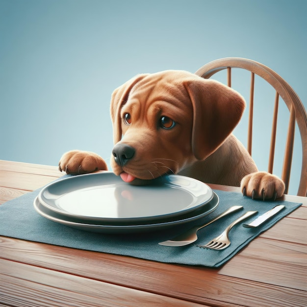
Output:
[[256,172],[241,180],[241,192],[252,199],[276,200],[283,195],[283,181],[267,172]]

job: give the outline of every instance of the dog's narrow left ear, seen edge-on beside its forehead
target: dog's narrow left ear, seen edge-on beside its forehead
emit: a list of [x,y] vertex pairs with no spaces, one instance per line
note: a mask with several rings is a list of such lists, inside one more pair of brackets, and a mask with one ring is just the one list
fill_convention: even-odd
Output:
[[111,96],[110,113],[113,125],[113,141],[114,144],[119,142],[122,138],[122,125],[121,125],[121,109],[127,102],[129,93],[133,86],[146,77],[148,74],[137,75],[123,85],[115,89]]

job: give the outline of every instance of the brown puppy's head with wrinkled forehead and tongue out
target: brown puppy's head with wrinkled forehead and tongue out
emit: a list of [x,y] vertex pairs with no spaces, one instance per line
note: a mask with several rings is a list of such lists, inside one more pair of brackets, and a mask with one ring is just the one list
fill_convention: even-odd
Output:
[[133,77],[111,98],[113,172],[128,182],[176,174],[216,151],[244,108],[230,87],[188,72]]

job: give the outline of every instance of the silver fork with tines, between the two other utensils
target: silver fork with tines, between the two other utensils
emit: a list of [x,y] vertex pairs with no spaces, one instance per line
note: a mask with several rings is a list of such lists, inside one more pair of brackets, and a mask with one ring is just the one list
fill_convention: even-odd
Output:
[[208,242],[206,245],[197,245],[198,247],[201,248],[209,248],[211,250],[224,250],[228,246],[230,246],[230,239],[228,237],[228,233],[230,229],[242,222],[243,220],[247,219],[248,217],[256,214],[258,211],[247,211],[245,214],[243,214],[241,217],[233,221],[219,236],[216,238],[212,239],[210,242]]

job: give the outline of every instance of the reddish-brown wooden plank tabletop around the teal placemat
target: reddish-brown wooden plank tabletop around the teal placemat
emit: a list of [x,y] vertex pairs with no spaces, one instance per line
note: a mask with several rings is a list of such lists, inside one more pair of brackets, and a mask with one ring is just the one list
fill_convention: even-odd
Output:
[[[0,160],[0,204],[62,176]],[[211,185],[236,191],[237,188]],[[219,269],[0,236],[0,306],[307,306],[307,198]]]

